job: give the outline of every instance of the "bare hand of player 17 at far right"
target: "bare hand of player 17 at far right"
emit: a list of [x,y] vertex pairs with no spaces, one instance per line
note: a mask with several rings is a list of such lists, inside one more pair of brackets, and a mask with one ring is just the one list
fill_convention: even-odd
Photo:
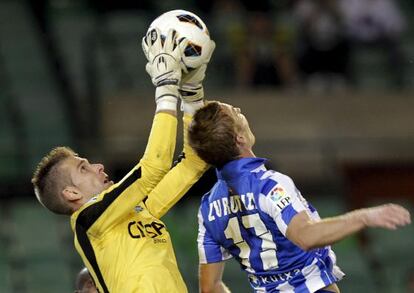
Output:
[[386,204],[363,209],[363,221],[368,227],[395,230],[411,223],[410,212],[400,205]]

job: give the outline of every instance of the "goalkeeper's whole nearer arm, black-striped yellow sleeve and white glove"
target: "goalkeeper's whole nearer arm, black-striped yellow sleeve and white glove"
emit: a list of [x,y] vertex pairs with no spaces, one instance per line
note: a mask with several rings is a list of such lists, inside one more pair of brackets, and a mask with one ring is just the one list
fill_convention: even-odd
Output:
[[[176,46],[170,31],[161,42],[158,30],[143,39],[148,46],[146,70],[156,87],[156,115],[145,154],[139,164],[119,183],[77,211],[74,229],[87,229],[92,235],[108,231],[151,192],[171,166],[176,136],[176,107],[181,80],[180,56],[184,40]],[[104,216],[103,216],[104,215]]]

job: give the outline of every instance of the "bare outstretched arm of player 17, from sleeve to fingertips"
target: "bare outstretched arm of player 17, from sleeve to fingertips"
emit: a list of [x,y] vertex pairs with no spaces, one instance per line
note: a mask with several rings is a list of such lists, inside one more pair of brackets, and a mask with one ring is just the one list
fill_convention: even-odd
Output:
[[302,211],[291,220],[286,236],[302,249],[309,250],[334,244],[367,227],[395,230],[410,222],[408,210],[395,204],[355,210],[320,221],[312,220]]

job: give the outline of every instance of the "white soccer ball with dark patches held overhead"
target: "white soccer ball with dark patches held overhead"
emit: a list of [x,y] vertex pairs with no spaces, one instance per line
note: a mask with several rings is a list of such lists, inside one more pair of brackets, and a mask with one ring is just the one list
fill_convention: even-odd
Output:
[[195,69],[210,60],[214,49],[210,34],[201,18],[194,13],[186,10],[168,11],[151,23],[148,32],[154,28],[161,31],[161,38],[165,38],[168,31],[174,29],[178,40],[184,37],[189,40],[182,57],[187,70]]

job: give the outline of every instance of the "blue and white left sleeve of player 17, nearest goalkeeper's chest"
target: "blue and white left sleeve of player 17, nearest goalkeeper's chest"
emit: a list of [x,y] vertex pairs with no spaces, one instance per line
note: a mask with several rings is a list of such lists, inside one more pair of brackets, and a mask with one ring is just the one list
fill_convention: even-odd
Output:
[[215,263],[231,258],[231,254],[218,244],[210,232],[206,229],[203,215],[201,212],[202,206],[198,212],[198,256],[200,264]]

